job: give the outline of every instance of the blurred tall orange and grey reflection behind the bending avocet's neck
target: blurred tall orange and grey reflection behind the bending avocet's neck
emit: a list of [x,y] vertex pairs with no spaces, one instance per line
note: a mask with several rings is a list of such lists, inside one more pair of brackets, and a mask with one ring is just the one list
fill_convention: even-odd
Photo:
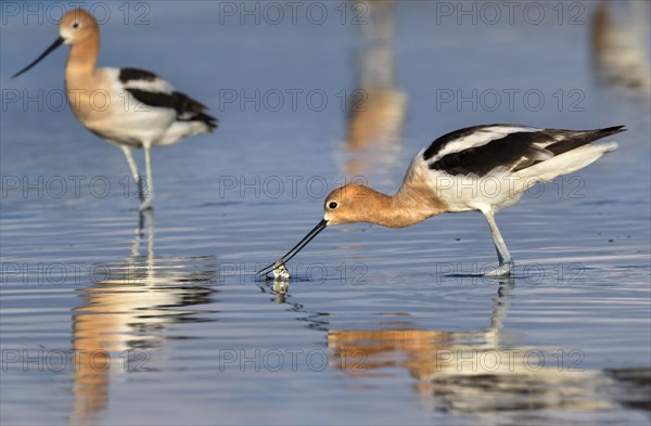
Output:
[[[366,25],[359,25],[359,83],[348,99],[345,173],[354,178],[375,167],[401,167],[397,141],[403,131],[407,95],[396,87],[393,35],[394,2],[362,1]],[[391,175],[391,173],[387,173]]]

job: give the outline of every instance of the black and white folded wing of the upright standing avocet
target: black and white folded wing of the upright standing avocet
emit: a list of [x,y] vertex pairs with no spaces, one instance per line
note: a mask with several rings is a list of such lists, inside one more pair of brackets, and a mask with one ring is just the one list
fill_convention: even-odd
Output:
[[209,129],[217,127],[217,118],[205,113],[205,105],[177,92],[171,85],[153,73],[122,68],[118,78],[124,89],[143,105],[174,109],[177,121],[202,121]]

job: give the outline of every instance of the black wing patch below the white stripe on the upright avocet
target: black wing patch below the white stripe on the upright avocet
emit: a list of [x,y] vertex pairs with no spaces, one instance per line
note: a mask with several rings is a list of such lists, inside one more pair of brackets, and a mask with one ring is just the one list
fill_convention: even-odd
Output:
[[143,105],[174,109],[179,121],[203,121],[212,129],[217,127],[217,118],[205,113],[205,105],[184,93],[150,92],[140,89],[126,90]]

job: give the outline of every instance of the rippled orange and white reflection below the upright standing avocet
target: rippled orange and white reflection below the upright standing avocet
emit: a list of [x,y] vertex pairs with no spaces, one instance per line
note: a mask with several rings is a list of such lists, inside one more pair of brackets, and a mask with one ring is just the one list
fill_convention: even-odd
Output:
[[141,214],[130,251],[124,262],[95,268],[92,285],[80,289],[84,304],[73,315],[71,424],[97,423],[108,403],[111,377],[148,370],[155,351],[174,338],[173,324],[209,321],[202,317],[207,311],[183,308],[213,301],[213,256],[154,256],[151,210]]

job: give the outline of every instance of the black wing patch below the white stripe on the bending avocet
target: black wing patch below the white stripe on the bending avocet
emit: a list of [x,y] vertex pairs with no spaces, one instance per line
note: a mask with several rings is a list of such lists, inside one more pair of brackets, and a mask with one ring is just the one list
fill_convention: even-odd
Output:
[[429,167],[450,175],[473,173],[478,177],[487,175],[497,167],[518,171],[553,155],[566,153],[598,139],[624,131],[623,127],[598,130],[548,129],[510,133],[485,145],[445,155]]

